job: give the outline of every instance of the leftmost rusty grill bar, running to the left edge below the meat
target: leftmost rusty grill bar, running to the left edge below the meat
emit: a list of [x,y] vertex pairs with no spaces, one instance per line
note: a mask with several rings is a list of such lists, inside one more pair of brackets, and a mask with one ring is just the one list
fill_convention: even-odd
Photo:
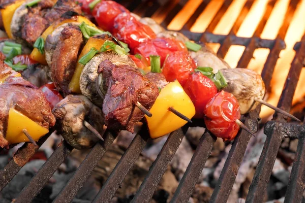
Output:
[[0,191],[16,176],[20,169],[27,163],[27,161],[37,152],[39,147],[48,139],[50,132],[42,137],[38,142],[37,146],[32,143],[24,143],[20,147],[10,162],[0,171]]

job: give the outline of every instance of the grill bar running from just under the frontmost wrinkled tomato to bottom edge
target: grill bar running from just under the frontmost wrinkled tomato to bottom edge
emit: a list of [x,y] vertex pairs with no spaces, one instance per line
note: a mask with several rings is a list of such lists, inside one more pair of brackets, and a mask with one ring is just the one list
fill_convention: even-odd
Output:
[[200,138],[199,145],[183,175],[171,202],[188,202],[195,184],[203,170],[204,164],[211,154],[216,137],[209,132],[205,132]]

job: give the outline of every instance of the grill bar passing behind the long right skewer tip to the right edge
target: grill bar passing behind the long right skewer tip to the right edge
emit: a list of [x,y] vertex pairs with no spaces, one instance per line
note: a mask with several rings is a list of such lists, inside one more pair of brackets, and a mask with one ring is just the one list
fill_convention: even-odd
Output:
[[[302,41],[305,40],[305,36]],[[297,54],[295,55],[291,68],[289,70],[284,90],[281,94],[278,107],[286,111],[290,110],[292,98],[298,82],[298,78],[303,67],[302,61],[305,58],[305,41],[301,43]],[[272,120],[285,121],[284,116],[275,113]],[[282,142],[281,133],[278,129],[264,129],[267,135],[263,151],[261,153],[258,167],[255,171],[252,184],[249,188],[249,194],[246,202],[262,202],[267,189],[272,167],[276,161],[279,147]]]

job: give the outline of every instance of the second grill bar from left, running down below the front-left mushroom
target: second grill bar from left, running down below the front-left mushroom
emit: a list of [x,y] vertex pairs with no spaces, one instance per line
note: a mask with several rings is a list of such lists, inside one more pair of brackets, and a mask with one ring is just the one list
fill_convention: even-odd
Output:
[[14,200],[15,203],[32,202],[35,196],[42,190],[44,185],[55,173],[57,168],[62,164],[65,158],[71,153],[72,147],[64,141],[57,147],[54,153],[41,166],[37,174],[22,189],[19,196]]

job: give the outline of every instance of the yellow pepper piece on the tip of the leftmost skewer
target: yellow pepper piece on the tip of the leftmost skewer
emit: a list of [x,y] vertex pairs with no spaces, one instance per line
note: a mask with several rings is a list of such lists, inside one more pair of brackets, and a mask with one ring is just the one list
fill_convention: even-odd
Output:
[[28,138],[22,132],[23,129],[27,130],[34,141],[38,141],[42,136],[49,132],[47,128],[40,126],[27,116],[11,108],[5,139],[10,144],[29,142]]

